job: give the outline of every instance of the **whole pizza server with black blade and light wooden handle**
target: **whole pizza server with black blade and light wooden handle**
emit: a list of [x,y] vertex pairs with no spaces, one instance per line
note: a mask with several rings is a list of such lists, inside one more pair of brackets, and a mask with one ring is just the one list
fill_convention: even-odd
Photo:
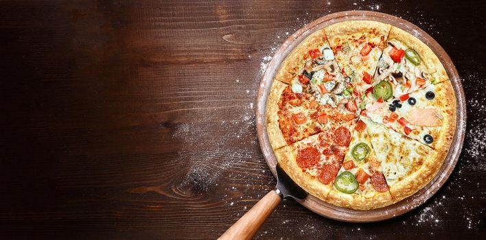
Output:
[[275,190],[267,193],[219,239],[251,239],[264,221],[273,213],[283,197],[303,200],[307,195],[308,193],[297,186],[280,165],[277,165],[277,187],[275,187]]

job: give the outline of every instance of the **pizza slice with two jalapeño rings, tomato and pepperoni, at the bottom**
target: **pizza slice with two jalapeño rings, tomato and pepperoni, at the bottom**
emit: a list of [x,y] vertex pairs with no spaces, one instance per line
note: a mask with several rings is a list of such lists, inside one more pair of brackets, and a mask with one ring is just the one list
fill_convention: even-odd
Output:
[[354,128],[343,166],[326,198],[331,204],[369,210],[393,202],[366,128],[362,120]]

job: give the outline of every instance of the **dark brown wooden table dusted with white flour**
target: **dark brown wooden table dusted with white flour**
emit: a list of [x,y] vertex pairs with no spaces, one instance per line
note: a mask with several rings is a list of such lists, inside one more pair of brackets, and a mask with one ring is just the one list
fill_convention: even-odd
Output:
[[[356,3],[356,4],[354,4]],[[375,10],[432,35],[467,98],[426,204],[347,224],[285,200],[261,239],[485,239],[484,1],[1,1],[0,239],[215,239],[273,188],[255,130],[288,34]]]

